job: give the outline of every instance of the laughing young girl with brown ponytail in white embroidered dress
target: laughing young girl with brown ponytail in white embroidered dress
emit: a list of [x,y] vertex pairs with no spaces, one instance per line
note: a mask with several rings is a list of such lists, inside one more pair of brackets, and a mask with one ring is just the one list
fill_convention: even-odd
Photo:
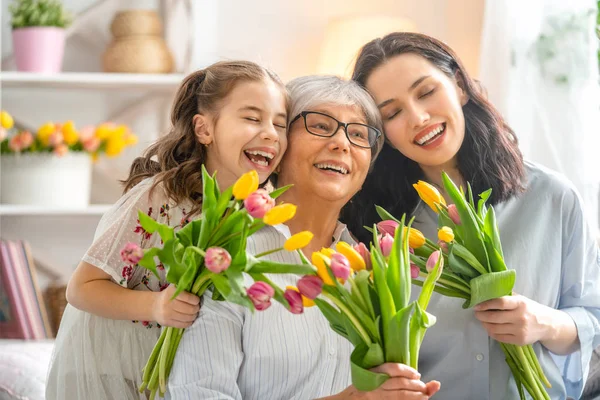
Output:
[[245,61],[220,62],[189,75],[175,98],[171,132],[136,159],[125,194],[98,225],[75,270],[56,338],[47,399],[139,399],[141,371],[161,326],[185,328],[199,299],[144,268],[122,261],[128,242],[149,248],[138,211],[175,229],[197,218],[201,166],[232,185],[255,169],[265,181],[287,146],[287,94],[279,78]]

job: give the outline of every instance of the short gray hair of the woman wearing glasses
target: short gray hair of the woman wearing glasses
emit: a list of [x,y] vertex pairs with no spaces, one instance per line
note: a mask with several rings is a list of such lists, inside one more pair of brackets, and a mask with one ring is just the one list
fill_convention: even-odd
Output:
[[288,123],[302,111],[310,111],[325,104],[359,107],[365,115],[367,124],[381,132],[377,144],[371,149],[371,165],[373,165],[385,138],[381,114],[375,101],[365,89],[354,81],[334,75],[302,76],[292,79],[286,87],[290,95]]

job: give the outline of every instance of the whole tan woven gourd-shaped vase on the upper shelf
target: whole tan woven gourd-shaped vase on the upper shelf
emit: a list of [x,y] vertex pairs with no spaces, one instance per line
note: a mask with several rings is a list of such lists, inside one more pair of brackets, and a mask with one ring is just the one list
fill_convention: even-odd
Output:
[[173,71],[173,56],[161,36],[162,24],[155,11],[121,11],[110,30],[113,41],[103,55],[104,71],[149,74]]

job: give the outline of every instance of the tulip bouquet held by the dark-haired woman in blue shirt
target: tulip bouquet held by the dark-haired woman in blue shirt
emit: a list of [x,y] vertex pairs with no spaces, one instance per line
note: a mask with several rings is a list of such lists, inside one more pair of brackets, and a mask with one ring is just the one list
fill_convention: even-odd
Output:
[[[516,273],[506,267],[494,208],[485,204],[491,189],[481,193],[475,204],[470,185],[467,185],[465,195],[446,173],[443,173],[442,181],[453,204],[446,205],[438,190],[426,182],[419,181],[414,185],[419,197],[438,214],[439,226],[439,242],[434,244],[426,239],[421,246],[414,248],[415,254],[411,255],[411,260],[419,268],[419,276],[425,276],[425,260],[441,248],[448,267],[436,284],[437,292],[465,299],[463,308],[511,295]],[[387,214],[386,217],[391,216]],[[427,279],[424,282],[415,279],[413,282],[425,286]],[[550,387],[550,382],[532,346],[506,343],[500,343],[500,346],[517,383],[520,398],[525,399],[525,389],[534,400],[549,400],[545,387]]]

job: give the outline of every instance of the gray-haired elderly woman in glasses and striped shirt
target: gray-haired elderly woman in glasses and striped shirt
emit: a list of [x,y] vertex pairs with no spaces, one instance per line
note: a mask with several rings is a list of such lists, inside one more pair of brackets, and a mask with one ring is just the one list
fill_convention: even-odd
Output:
[[[356,83],[309,76],[293,80],[288,89],[292,118],[278,185],[294,185],[281,200],[298,211],[286,225],[251,236],[248,250],[255,254],[281,247],[303,230],[314,233],[307,255],[340,240],[352,242],[338,215],[361,188],[382,145],[379,111]],[[293,252],[269,257],[301,262]],[[298,279],[270,278],[280,287]],[[437,382],[421,382],[407,366],[384,364],[377,370],[392,378],[376,391],[359,392],[351,386],[351,351],[316,307],[293,315],[276,303],[251,313],[206,296],[200,317],[179,345],[167,398],[427,399],[439,388]]]

